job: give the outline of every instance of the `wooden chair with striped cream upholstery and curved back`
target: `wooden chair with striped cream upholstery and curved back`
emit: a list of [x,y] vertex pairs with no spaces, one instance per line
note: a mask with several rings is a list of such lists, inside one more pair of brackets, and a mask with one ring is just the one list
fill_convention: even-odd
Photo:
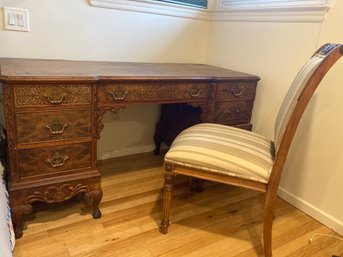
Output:
[[165,156],[165,183],[161,232],[169,226],[173,178],[194,178],[265,192],[263,241],[272,256],[272,223],[277,191],[288,150],[301,116],[318,84],[342,56],[343,45],[322,46],[302,67],[281,105],[274,140],[238,128],[202,123],[174,140]]

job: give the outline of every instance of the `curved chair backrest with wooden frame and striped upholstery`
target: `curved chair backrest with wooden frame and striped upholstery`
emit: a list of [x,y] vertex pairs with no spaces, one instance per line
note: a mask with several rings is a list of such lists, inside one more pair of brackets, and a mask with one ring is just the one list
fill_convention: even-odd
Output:
[[269,178],[271,187],[278,187],[283,165],[307,104],[325,74],[342,55],[343,45],[323,45],[299,71],[287,92],[275,121],[276,155]]

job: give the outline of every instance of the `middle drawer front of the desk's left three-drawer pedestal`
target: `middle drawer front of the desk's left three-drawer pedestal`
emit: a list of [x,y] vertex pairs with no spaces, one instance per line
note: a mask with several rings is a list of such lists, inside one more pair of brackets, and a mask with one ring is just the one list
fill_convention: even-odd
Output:
[[18,144],[90,137],[91,111],[17,113],[16,126]]

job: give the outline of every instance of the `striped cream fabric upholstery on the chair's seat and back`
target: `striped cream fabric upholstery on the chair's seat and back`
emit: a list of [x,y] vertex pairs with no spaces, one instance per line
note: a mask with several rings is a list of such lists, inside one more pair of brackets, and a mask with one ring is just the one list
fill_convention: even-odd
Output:
[[[314,55],[293,80],[275,122],[276,149],[279,148],[300,93],[324,57],[321,54]],[[186,129],[175,139],[165,161],[197,170],[268,183],[274,162],[274,142],[256,133],[234,127],[212,123],[199,124]]]

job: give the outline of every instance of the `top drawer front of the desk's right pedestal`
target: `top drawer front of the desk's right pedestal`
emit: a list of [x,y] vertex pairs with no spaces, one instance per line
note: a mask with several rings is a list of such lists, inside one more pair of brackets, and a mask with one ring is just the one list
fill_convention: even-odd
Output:
[[255,82],[221,82],[217,89],[217,99],[254,99]]

